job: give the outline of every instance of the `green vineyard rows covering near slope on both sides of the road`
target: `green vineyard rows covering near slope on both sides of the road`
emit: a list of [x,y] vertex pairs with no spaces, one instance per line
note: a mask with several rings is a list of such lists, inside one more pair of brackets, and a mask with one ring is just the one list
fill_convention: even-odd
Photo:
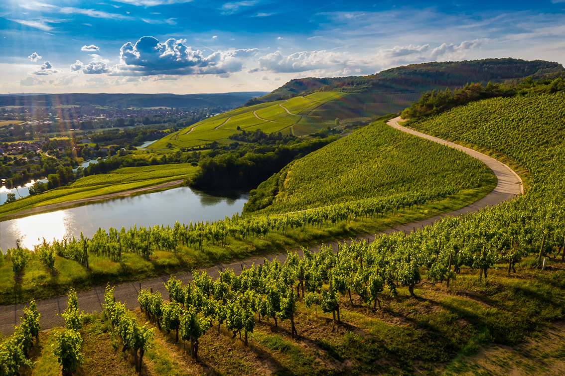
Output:
[[[71,292],[66,328],[49,333],[37,334],[32,302],[14,335],[0,344],[1,364],[8,365],[0,375],[45,374],[46,364],[85,375],[97,374],[99,364],[106,374],[152,375],[560,374],[565,328],[552,325],[565,317],[564,103],[563,93],[494,98],[408,124],[514,160],[530,179],[519,198],[370,244],[342,243],[337,252],[289,252],[282,264],[220,270],[215,279],[206,272],[193,272],[188,283],[172,277],[165,295],[140,289],[140,309],[132,312],[107,287],[103,313],[82,316]],[[413,152],[421,145],[423,156]],[[347,161],[343,150],[349,150],[365,166],[341,169],[324,154],[332,147],[341,152],[337,160]],[[64,268],[76,272],[72,284],[88,273],[106,281],[134,265],[146,273],[192,268],[244,257],[266,243],[288,248],[335,237],[333,231],[355,223],[429,215],[449,196],[480,182],[488,186],[480,164],[443,149],[374,124],[291,165],[264,187],[299,186],[300,169],[322,171],[317,186],[286,196],[293,204],[273,200],[282,215],[99,230],[92,239],[44,241],[33,254],[12,249],[0,260],[2,291],[14,291],[16,282],[32,291]],[[427,173],[436,180],[427,181]],[[342,175],[355,183],[339,186]],[[379,195],[383,184],[396,193]],[[372,191],[363,196],[367,186]],[[304,208],[312,209],[296,212]],[[24,287],[25,281],[36,285]],[[60,292],[68,285],[58,286]],[[489,360],[486,351],[500,356]]]

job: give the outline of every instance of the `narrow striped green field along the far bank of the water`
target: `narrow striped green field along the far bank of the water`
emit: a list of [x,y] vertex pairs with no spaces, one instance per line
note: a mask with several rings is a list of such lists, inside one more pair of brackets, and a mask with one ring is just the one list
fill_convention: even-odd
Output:
[[0,206],[0,216],[26,209],[72,200],[92,198],[159,185],[169,181],[184,180],[198,167],[190,164],[168,164],[144,167],[124,167],[107,174],[82,177],[71,185],[50,190],[36,196],[27,196]]

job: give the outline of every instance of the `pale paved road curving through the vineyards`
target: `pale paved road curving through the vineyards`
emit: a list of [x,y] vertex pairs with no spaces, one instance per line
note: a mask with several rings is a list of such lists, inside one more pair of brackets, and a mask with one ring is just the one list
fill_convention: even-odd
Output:
[[[403,132],[412,133],[418,135],[419,137],[424,137],[427,139],[431,139],[432,141],[443,143],[445,145],[449,145],[451,147],[455,147],[458,150],[462,150],[467,154],[472,155],[473,157],[484,161],[489,168],[493,170],[498,178],[498,185],[496,188],[486,195],[483,199],[461,208],[459,210],[444,213],[442,215],[438,215],[435,217],[428,218],[427,220],[406,224],[402,226],[398,226],[393,229],[388,229],[383,231],[382,233],[390,234],[396,231],[406,231],[406,233],[410,233],[413,229],[421,229],[428,225],[433,225],[437,221],[441,221],[444,217],[453,217],[459,216],[469,212],[476,212],[479,209],[485,207],[493,207],[497,204],[510,200],[514,198],[516,195],[523,193],[523,187],[521,184],[520,177],[514,171],[512,171],[509,167],[505,164],[497,161],[496,159],[490,158],[484,154],[476,152],[474,150],[461,147],[459,145],[455,145],[451,142],[446,142],[444,140],[431,137],[429,135],[415,132],[414,130],[404,128],[398,125],[399,118],[393,119],[389,121],[390,126],[394,126],[394,128],[400,129]],[[367,239],[368,241],[373,241],[376,235],[366,235],[364,237],[359,237],[358,239]],[[349,241],[347,241],[349,242]],[[338,241],[329,244],[334,248],[337,249]],[[312,251],[317,251],[319,246],[312,247]],[[299,252],[301,253],[301,252]],[[264,259],[272,261],[274,259],[279,259],[281,262],[284,262],[286,259],[286,255],[284,254],[271,254],[266,256],[260,257],[253,257],[251,259],[246,259],[245,261],[238,261],[232,264],[219,264],[215,265],[212,268],[207,269],[208,274],[210,274],[213,278],[218,277],[218,271],[220,269],[227,269],[232,268],[236,273],[241,271],[242,265],[250,266],[252,264],[259,264],[263,263]],[[192,279],[190,273],[184,273],[177,276],[177,278],[181,279],[183,282],[188,282]],[[166,282],[168,276],[162,276],[159,278],[151,279],[149,281],[142,281],[142,282],[127,282],[121,283],[117,285],[114,291],[114,296],[116,300],[121,301],[125,304],[128,309],[134,309],[138,307],[137,304],[137,292],[141,288],[153,288],[154,292],[160,291],[164,298],[168,299],[167,290],[164,287],[164,282]],[[79,300],[79,308],[84,312],[100,312],[102,310],[102,303],[104,301],[104,287],[95,287],[92,290],[80,292],[77,294],[77,298]],[[9,335],[14,330],[14,325],[18,325],[19,318],[23,315],[22,309],[24,304],[15,304],[15,305],[4,305],[0,306],[0,333],[3,335]],[[67,297],[61,296],[59,298],[41,300],[37,302],[38,311],[41,313],[41,328],[46,329],[54,326],[64,325],[64,320],[60,316],[60,313],[64,311],[67,307]]]

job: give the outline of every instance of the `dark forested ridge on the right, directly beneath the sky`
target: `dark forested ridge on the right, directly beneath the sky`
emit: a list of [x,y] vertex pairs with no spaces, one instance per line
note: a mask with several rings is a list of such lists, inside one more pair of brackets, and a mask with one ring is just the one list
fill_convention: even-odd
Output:
[[565,69],[559,63],[544,60],[530,62],[511,58],[410,64],[386,69],[370,76],[298,78],[286,82],[270,94],[249,100],[246,105],[270,102],[295,95],[306,95],[314,91],[419,94],[423,91],[445,89],[446,87],[456,88],[471,82],[486,84],[488,81],[517,81],[528,76],[532,76],[534,80],[565,77]]

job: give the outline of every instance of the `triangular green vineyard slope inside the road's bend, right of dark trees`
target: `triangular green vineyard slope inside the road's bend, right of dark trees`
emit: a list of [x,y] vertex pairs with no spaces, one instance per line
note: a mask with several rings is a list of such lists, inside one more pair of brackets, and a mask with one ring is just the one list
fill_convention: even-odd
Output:
[[272,202],[261,212],[284,213],[436,187],[474,189],[490,180],[484,173],[482,162],[380,121],[289,164],[251,191],[244,211],[256,203]]

